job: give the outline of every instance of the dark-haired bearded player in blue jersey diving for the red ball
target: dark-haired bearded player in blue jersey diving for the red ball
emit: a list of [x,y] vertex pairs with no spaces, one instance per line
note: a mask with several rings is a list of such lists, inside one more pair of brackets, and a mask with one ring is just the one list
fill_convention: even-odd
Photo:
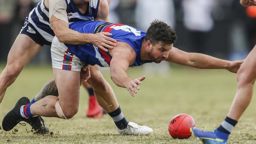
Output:
[[[15,107],[4,117],[2,122],[4,130],[9,131],[19,121],[25,118],[30,119],[34,115],[72,118],[78,111],[80,71],[84,65],[110,66],[113,82],[119,87],[126,88],[134,96],[140,89],[138,85],[145,79],[145,76],[136,79],[130,78],[126,74],[129,66],[169,61],[195,68],[225,68],[230,72],[237,72],[243,62],[231,62],[209,55],[178,50],[173,47],[176,33],[170,26],[158,20],[152,22],[147,33],[123,24],[96,21],[74,22],[69,25],[69,28],[81,33],[102,31],[112,33],[110,37],[117,40],[117,46],[106,52],[93,44],[64,44],[54,37],[51,47],[52,67],[59,97],[49,95],[33,104],[29,103],[26,97],[20,98]],[[88,79],[90,84],[92,81],[93,79]],[[109,115],[117,122],[122,118],[120,113],[117,109]],[[134,123],[131,126],[137,127],[135,130],[143,128]],[[152,131],[147,127],[144,129],[148,133]]]

